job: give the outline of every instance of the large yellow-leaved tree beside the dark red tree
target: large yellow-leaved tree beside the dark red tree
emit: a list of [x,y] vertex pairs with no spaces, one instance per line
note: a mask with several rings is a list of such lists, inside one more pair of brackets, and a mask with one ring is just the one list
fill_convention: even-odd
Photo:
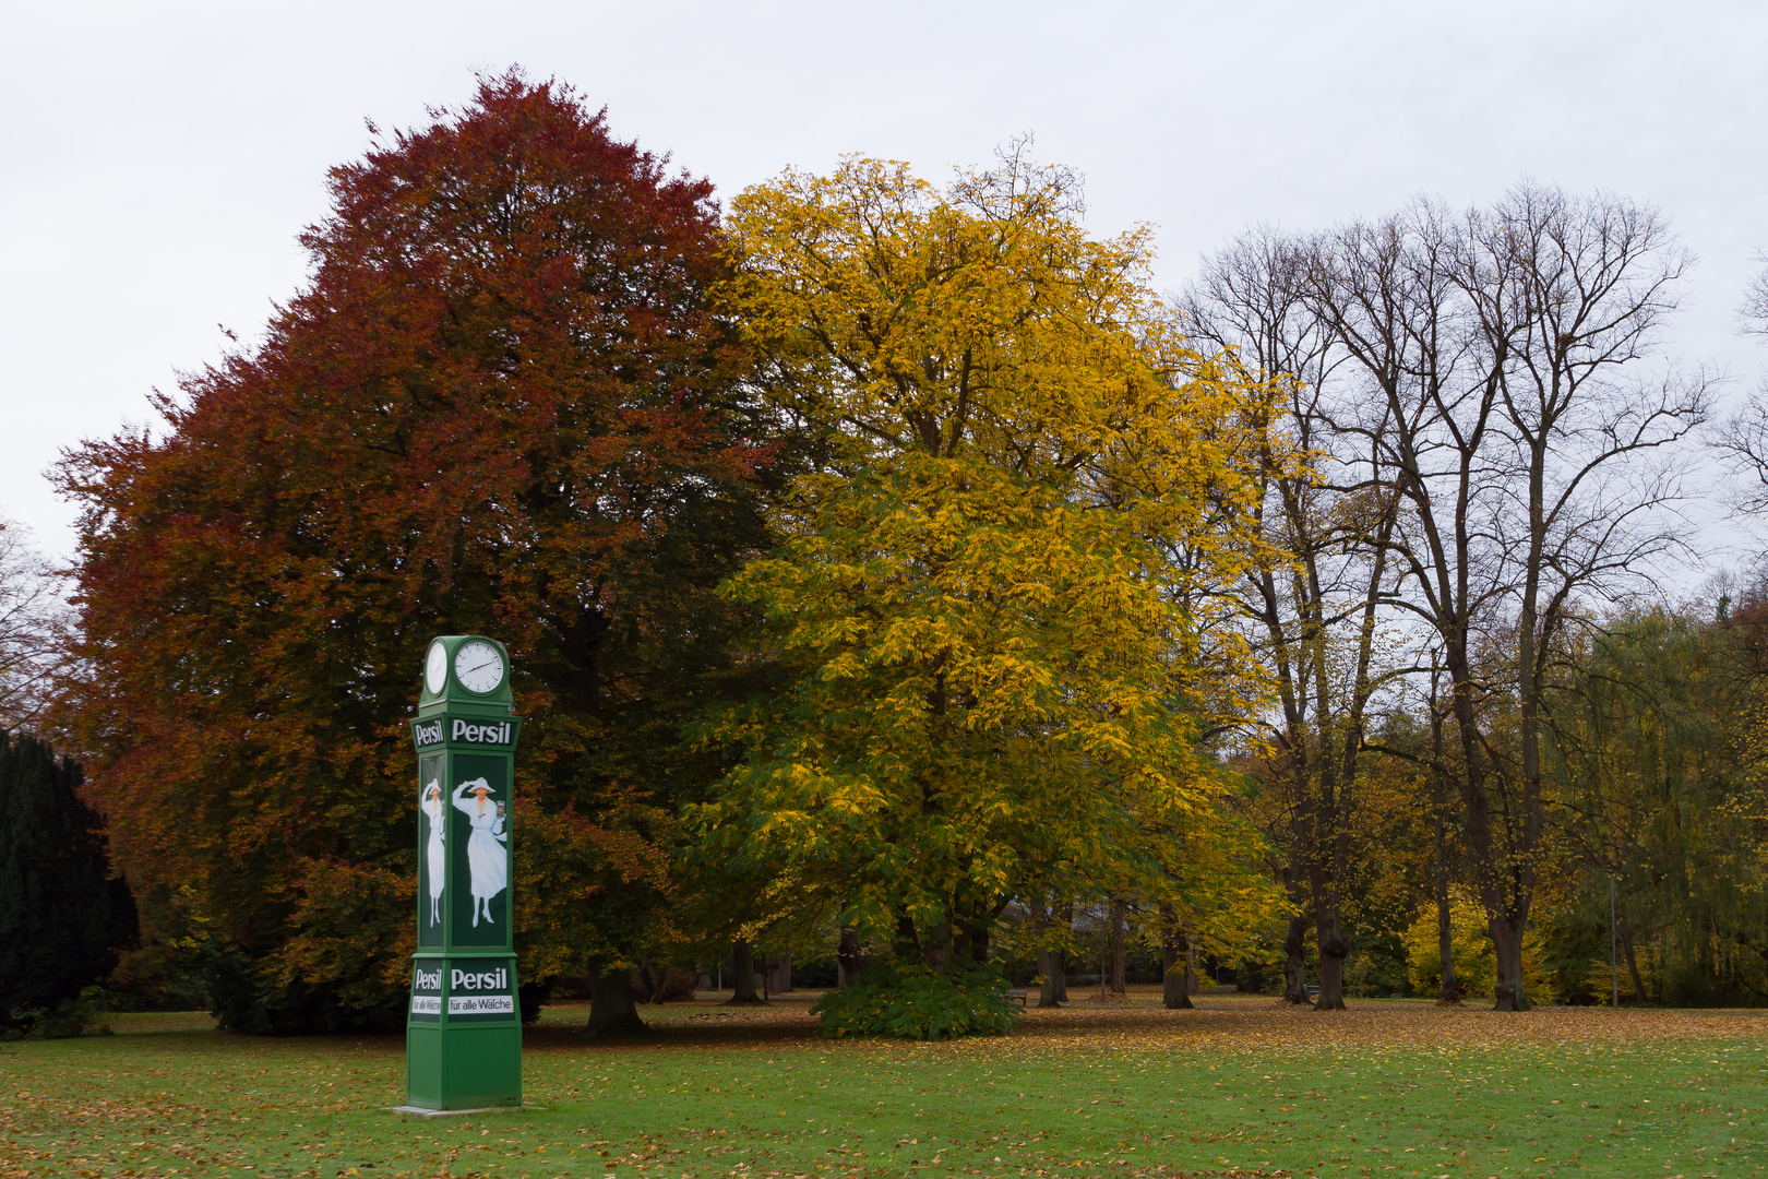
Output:
[[[847,159],[728,217],[728,308],[815,458],[728,587],[787,688],[707,726],[739,757],[697,818],[923,976],[985,962],[1013,898],[1190,910],[1176,833],[1231,822],[1200,739],[1259,698],[1211,603],[1254,557],[1220,520],[1269,394],[1185,346],[1147,230],[1094,240],[1077,198],[1017,152],[944,191]],[[1269,903],[1250,880],[1215,893]]]

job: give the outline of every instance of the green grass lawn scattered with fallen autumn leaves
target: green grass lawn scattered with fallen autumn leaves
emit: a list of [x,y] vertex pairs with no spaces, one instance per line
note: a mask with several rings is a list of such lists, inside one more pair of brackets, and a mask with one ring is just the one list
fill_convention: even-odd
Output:
[[400,1038],[223,1036],[200,1015],[0,1045],[0,1177],[1768,1175],[1768,1013],[1031,1011],[1011,1036],[826,1043],[806,1002],[647,1008],[527,1036],[541,1110],[405,1121]]

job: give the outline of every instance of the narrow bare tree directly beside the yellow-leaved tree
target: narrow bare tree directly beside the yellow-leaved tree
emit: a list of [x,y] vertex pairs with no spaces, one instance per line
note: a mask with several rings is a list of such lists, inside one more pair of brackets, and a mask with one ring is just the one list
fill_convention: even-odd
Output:
[[1338,451],[1347,438],[1321,412],[1328,378],[1347,354],[1308,302],[1317,267],[1315,242],[1255,230],[1208,258],[1179,306],[1197,343],[1275,387],[1264,422],[1266,495],[1241,527],[1282,557],[1248,569],[1239,601],[1271,659],[1280,709],[1269,725],[1266,781],[1282,808],[1273,834],[1289,854],[1280,875],[1298,907],[1285,939],[1285,999],[1307,1002],[1310,900],[1321,956],[1315,1006],[1342,1009],[1356,771],[1381,682],[1372,656],[1397,498],[1372,477],[1377,456],[1345,461]]

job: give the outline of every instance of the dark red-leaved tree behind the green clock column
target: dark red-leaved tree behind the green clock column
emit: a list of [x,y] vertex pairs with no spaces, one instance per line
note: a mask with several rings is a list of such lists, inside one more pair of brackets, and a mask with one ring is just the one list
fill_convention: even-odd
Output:
[[654,811],[711,772],[674,737],[727,666],[709,590],[762,537],[707,182],[513,72],[329,187],[262,345],[62,470],[72,723],[118,861],[196,891],[235,1027],[398,1000],[401,719],[438,633],[516,656],[518,894],[559,852],[575,896],[622,898],[530,909],[522,939],[633,953],[670,889]]

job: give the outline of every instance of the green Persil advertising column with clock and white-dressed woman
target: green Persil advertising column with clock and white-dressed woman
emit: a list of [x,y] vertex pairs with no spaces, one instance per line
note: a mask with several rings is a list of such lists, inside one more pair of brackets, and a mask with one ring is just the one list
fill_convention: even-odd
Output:
[[511,840],[522,719],[509,652],[479,635],[431,640],[417,746],[417,953],[405,1025],[412,1110],[522,1105]]

